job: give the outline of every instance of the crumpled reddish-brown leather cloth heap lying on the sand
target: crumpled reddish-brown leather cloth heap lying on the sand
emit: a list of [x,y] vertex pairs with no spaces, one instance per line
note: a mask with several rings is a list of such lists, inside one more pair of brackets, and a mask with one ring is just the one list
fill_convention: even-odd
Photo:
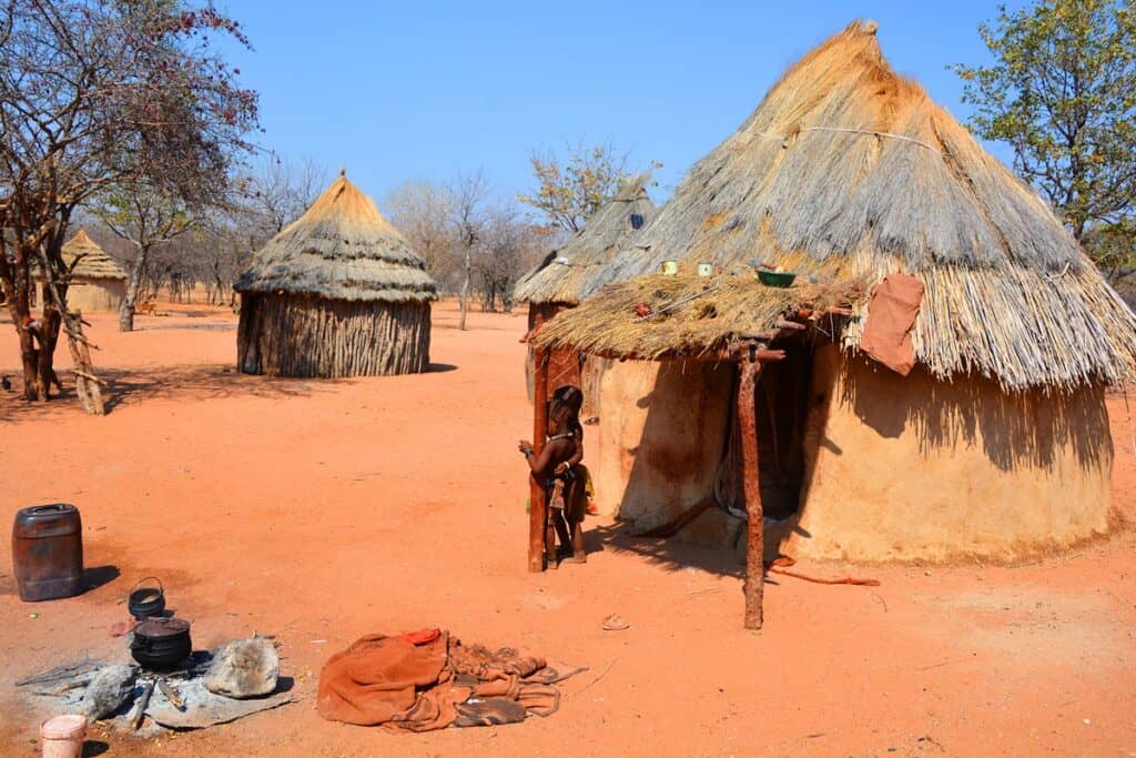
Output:
[[[548,716],[560,706],[554,682],[582,670],[560,668],[558,673],[543,658],[509,648],[492,652],[462,645],[446,632],[371,634],[324,664],[316,708],[328,720],[402,732],[445,728],[458,720],[458,706],[467,700],[506,699]],[[474,711],[465,711],[462,725],[478,723]]]

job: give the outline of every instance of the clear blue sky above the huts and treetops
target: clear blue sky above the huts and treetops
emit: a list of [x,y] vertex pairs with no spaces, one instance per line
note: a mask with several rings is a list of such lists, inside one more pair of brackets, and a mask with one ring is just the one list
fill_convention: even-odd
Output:
[[996,14],[994,0],[220,5],[252,40],[234,63],[261,94],[264,143],[345,165],[376,200],[478,168],[515,194],[532,183],[529,149],[565,140],[662,163],[665,198],[786,66],[857,17],[879,22],[892,66],[963,119],[946,66],[988,60],[977,26]]

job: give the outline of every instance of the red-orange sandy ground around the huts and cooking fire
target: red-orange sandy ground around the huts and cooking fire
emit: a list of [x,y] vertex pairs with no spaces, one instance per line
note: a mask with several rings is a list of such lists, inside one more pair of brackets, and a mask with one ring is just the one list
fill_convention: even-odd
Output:
[[[520,316],[473,314],[461,333],[443,305],[438,370],[321,382],[237,374],[234,317],[178,310],[134,334],[92,319],[114,383],[105,418],[0,392],[3,517],[77,503],[87,566],[120,573],[24,605],[0,548],[5,756],[34,755],[42,718],[12,680],[84,650],[124,656],[108,631],[148,574],[199,648],[275,634],[300,701],[159,740],[95,728],[109,755],[1136,755],[1129,531],[1012,568],[802,566],[882,586],[771,576],[754,634],[735,558],[629,541],[602,520],[586,525],[586,566],[525,570]],[[1133,518],[1131,432],[1124,401],[1110,408],[1116,501]],[[632,627],[601,630],[611,613]],[[411,736],[319,718],[333,651],[426,625],[590,670],[563,685],[560,713],[523,725]]]

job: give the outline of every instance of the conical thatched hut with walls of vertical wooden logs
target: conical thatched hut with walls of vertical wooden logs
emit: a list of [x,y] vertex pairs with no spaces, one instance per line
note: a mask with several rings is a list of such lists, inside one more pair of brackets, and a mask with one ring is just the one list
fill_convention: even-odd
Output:
[[429,364],[434,281],[343,175],[257,253],[236,290],[247,374],[368,376]]

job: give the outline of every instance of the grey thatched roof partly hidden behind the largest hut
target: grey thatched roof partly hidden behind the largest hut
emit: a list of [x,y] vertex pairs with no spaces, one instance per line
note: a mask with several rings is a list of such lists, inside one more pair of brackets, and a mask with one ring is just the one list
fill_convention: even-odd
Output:
[[616,197],[595,211],[587,225],[560,248],[552,250],[533,270],[517,282],[517,302],[565,302],[576,305],[585,288],[594,289],[604,264],[619,252],[655,213],[646,193],[649,174],[640,174],[619,189]]

